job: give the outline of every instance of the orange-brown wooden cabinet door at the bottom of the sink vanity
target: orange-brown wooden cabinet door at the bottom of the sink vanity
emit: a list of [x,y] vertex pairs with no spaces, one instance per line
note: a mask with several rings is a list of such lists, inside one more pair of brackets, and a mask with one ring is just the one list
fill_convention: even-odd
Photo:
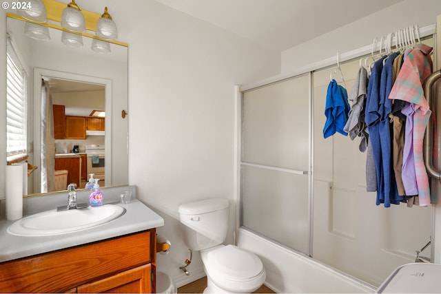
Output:
[[151,265],[146,264],[79,286],[76,293],[152,293],[150,274]]

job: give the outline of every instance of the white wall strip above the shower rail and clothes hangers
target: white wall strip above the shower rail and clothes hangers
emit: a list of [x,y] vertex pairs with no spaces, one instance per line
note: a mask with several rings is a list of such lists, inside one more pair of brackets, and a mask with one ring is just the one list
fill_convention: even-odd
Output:
[[[344,17],[342,15],[336,17]],[[441,1],[404,0],[396,5],[343,25],[341,28],[311,39],[282,52],[282,72],[289,73],[305,65],[362,48],[373,43],[375,37],[418,25],[420,28],[436,22],[441,13]]]

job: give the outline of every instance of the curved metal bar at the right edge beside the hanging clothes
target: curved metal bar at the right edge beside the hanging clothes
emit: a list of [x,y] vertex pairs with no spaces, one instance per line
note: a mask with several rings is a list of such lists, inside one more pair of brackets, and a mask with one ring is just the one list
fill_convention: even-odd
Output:
[[[433,72],[426,80],[424,81],[424,95],[426,96],[427,103],[429,103],[429,107],[432,105],[436,105],[436,101],[432,103],[433,100],[433,85],[436,81],[441,78],[441,70],[437,70]],[[433,107],[433,111],[435,111],[435,107]],[[441,182],[441,171],[438,171],[433,167],[433,127],[431,121],[427,124],[426,133],[424,134],[424,162],[427,169],[427,174],[432,178],[436,178]]]

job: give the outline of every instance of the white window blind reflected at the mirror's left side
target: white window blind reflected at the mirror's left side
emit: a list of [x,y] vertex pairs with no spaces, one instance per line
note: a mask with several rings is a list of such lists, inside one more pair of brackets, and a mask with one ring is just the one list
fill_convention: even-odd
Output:
[[13,156],[26,153],[26,80],[12,46],[6,56],[6,155]]

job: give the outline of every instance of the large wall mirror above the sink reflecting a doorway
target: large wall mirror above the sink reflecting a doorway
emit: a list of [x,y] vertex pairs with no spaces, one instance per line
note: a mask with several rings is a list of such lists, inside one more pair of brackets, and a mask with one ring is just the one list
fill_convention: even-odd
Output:
[[[93,159],[95,162],[93,166],[101,167],[99,173],[105,175],[105,180],[100,181],[101,187],[127,185],[127,118],[121,117],[121,111],[127,111],[127,46],[110,43],[110,53],[98,53],[91,49],[94,39],[83,35],[81,36],[83,46],[71,47],[61,42],[63,30],[52,28],[53,25],[48,28],[50,40],[32,39],[25,36],[26,23],[28,22],[8,15],[7,32],[12,39],[14,49],[19,51],[20,60],[24,63],[27,72],[28,160],[38,167],[28,177],[28,193],[59,191],[55,190],[52,184],[45,185],[45,181],[50,183],[55,180],[54,176],[63,174],[58,172],[54,174],[55,170],[70,170],[69,164],[66,164],[61,167],[54,166],[53,171],[47,172],[45,160],[41,160],[42,155],[53,159],[53,162],[81,157],[83,164],[80,166],[82,172],[79,175],[81,177],[79,188],[83,188],[85,178],[88,178],[91,172],[87,166],[88,158],[89,161]],[[32,23],[32,25],[37,24]],[[42,105],[42,96],[44,97],[46,92],[50,97],[48,105],[64,108],[65,121],[72,117],[81,118],[81,122],[86,122],[85,137],[72,136],[72,130],[80,132],[83,129],[77,125],[69,129],[62,127],[68,132],[64,138],[57,137],[50,141],[42,136],[45,135],[41,129],[42,118],[44,122],[48,121],[44,118],[44,114],[42,116],[42,109],[52,109],[49,113],[50,118],[54,119],[54,107]],[[105,118],[92,119],[90,116],[92,110],[104,110]],[[55,115],[59,114],[57,111],[55,113]],[[55,119],[49,129],[54,127],[59,129],[59,123],[55,123],[59,120]],[[87,125],[88,120],[90,127]],[[98,121],[101,127],[97,127]],[[93,123],[95,123],[94,127],[92,127]],[[68,125],[72,124],[68,123]],[[47,149],[43,143],[48,143]],[[103,149],[96,151],[99,153],[98,156],[86,154],[86,146],[90,145],[99,145]],[[79,154],[74,153],[74,147]],[[75,166],[77,167],[78,164],[75,163]],[[112,169],[112,167],[118,168]],[[93,171],[96,172],[98,169]],[[76,169],[71,172],[72,175],[76,173]],[[69,179],[72,181],[70,177]],[[66,187],[63,187],[63,190]]]

